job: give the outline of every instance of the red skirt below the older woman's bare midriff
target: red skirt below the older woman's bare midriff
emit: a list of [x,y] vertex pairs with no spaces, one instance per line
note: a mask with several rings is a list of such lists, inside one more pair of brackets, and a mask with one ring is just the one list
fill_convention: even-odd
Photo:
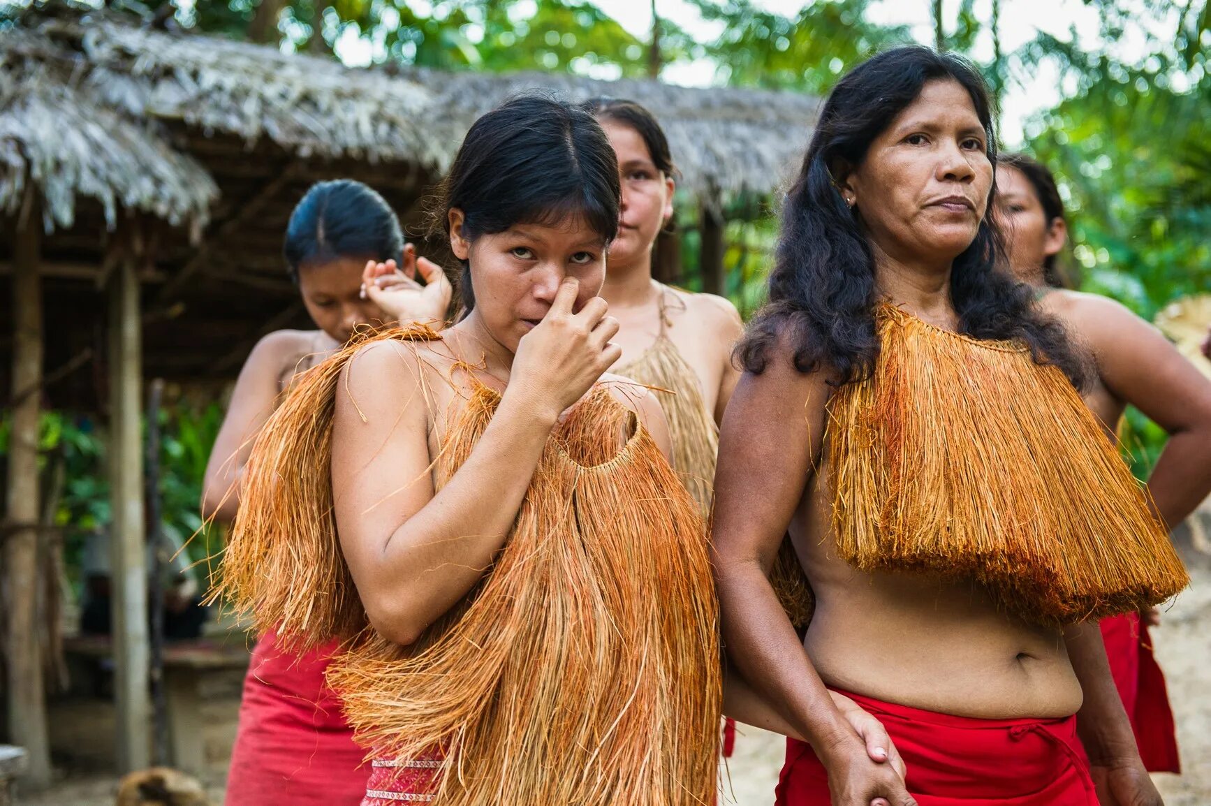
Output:
[[[920,806],[1097,806],[1077,718],[971,719],[842,691],[886,727]],[[777,806],[830,806],[811,747],[786,741]]]

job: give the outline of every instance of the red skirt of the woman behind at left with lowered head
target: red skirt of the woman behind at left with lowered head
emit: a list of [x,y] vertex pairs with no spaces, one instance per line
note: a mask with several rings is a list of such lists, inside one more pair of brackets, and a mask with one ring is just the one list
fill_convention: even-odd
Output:
[[243,680],[225,806],[357,806],[371,766],[354,744],[323,673],[335,644],[285,654],[276,635],[257,643]]

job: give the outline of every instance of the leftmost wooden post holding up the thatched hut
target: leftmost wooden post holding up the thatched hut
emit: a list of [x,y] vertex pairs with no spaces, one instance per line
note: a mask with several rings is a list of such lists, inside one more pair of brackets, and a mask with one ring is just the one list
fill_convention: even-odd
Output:
[[25,197],[13,244],[12,276],[12,436],[8,443],[7,511],[4,546],[5,658],[7,661],[8,736],[25,748],[24,784],[51,783],[46,697],[38,629],[39,474],[38,420],[42,382],[42,287],[38,263],[42,215],[33,188]]

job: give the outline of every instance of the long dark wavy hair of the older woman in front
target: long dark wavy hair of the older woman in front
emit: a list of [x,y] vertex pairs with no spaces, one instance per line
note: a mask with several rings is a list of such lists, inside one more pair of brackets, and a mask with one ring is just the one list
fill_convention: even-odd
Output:
[[[929,81],[955,81],[971,97],[995,165],[988,92],[963,58],[928,47],[897,47],[860,64],[828,94],[799,174],[786,196],[781,234],[769,277],[769,301],[736,347],[751,373],[765,369],[775,345],[793,349],[797,370],[823,369],[832,381],[866,378],[879,353],[874,255],[834,184],[830,166],[860,165],[871,143],[920,94]],[[995,188],[988,197],[989,209]],[[997,270],[1003,252],[987,211],[975,241],[954,259],[951,299],[959,329],[976,339],[1017,340],[1034,359],[1060,367],[1078,388],[1086,361],[1058,322],[1034,306],[1033,292]]]

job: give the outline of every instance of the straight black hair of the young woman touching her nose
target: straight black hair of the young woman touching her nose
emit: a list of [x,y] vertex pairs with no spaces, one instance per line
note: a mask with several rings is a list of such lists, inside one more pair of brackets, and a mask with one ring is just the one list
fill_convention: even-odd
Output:
[[[455,207],[469,240],[579,215],[609,243],[618,235],[621,198],[618,157],[593,116],[551,96],[527,93],[471,126],[438,188],[430,230],[449,236]],[[470,265],[461,263],[459,288],[470,311]]]

